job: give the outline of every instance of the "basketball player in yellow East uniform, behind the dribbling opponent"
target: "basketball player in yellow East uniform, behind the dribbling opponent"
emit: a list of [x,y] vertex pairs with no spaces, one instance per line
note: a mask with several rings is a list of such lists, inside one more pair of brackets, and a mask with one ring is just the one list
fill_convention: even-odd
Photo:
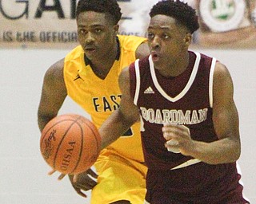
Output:
[[[146,39],[118,36],[120,8],[115,0],[80,0],[77,6],[80,45],[47,70],[38,108],[40,130],[58,115],[66,96],[88,112],[99,127],[118,108],[118,75],[136,58],[149,55]],[[140,204],[146,194],[139,124],[104,149],[91,170],[70,182],[78,194],[90,190],[92,204]],[[62,179],[63,175],[59,177]]]

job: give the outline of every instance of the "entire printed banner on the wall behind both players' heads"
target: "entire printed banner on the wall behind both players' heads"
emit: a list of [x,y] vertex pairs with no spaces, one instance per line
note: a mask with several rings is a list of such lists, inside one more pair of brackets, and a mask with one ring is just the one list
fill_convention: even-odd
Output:
[[[1,48],[73,48],[78,45],[78,0],[0,0]],[[119,0],[120,34],[146,37],[158,0]],[[194,43],[211,48],[256,48],[256,0],[184,0],[197,10]]]

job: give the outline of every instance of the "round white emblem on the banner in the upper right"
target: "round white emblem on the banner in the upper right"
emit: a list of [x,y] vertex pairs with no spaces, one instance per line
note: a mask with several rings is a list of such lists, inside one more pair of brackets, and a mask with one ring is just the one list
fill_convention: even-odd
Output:
[[246,11],[244,0],[201,0],[200,16],[212,31],[238,29]]

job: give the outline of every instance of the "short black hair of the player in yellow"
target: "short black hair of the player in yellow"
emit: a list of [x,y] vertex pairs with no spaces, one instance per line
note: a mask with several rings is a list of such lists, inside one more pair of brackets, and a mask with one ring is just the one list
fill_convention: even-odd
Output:
[[122,17],[121,9],[116,0],[79,0],[76,9],[76,18],[84,11],[95,11],[110,14],[114,24],[118,24]]

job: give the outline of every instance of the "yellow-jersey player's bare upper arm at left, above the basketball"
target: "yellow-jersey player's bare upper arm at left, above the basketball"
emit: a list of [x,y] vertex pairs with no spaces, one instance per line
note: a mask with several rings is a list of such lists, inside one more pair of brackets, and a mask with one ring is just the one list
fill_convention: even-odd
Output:
[[44,76],[41,100],[38,107],[38,126],[40,131],[54,116],[57,116],[66,98],[63,67],[64,59],[51,65]]

